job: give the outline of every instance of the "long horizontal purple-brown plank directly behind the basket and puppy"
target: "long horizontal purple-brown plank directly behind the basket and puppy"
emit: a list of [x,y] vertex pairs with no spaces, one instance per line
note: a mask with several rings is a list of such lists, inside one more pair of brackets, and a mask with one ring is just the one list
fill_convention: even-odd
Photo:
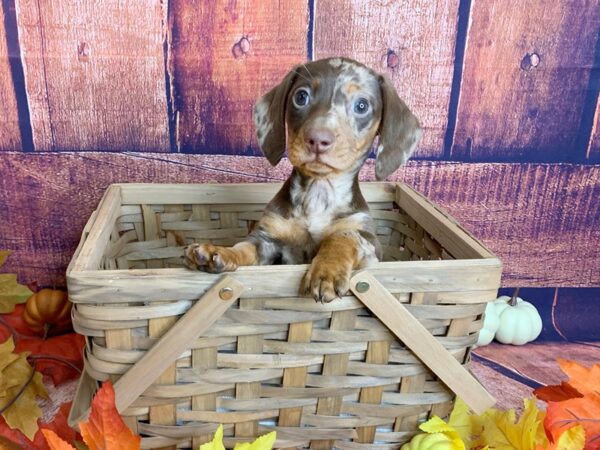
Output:
[[[81,230],[114,182],[280,181],[287,160],[145,154],[0,157],[2,270],[41,285],[64,283]],[[362,179],[373,180],[369,161]],[[438,203],[504,264],[504,286],[600,284],[600,167],[565,164],[410,163],[394,175]],[[25,207],[26,206],[26,207]]]

